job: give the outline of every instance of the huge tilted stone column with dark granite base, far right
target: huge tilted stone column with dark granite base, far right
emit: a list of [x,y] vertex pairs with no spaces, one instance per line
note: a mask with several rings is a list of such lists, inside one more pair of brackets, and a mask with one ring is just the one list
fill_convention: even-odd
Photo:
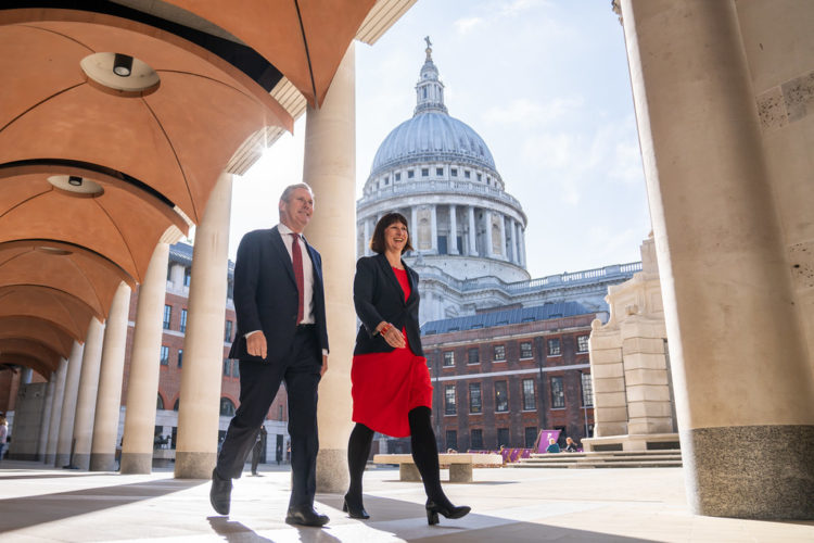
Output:
[[736,2],[622,16],[688,502],[814,518],[814,391]]

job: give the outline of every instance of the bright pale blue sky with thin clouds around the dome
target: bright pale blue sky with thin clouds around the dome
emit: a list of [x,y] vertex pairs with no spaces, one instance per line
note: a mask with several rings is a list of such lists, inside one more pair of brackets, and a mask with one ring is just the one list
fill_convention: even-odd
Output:
[[[449,114],[481,135],[529,218],[532,278],[640,260],[650,216],[610,0],[419,0],[374,46],[357,42],[357,198],[379,144],[412,116],[424,36]],[[302,180],[304,132],[305,115],[236,178],[231,258]]]

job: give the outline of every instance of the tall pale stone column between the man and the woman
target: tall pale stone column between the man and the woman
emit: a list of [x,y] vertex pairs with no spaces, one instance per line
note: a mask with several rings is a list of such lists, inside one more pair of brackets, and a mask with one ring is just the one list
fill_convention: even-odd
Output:
[[[347,490],[351,433],[351,359],[356,332],[352,285],[356,204],[354,43],[347,49],[319,110],[308,108],[303,178],[314,188],[315,211],[305,235],[322,254],[331,353],[319,386],[317,492]],[[415,213],[414,213],[415,218]],[[414,229],[415,232],[415,229]],[[415,241],[414,241],[415,244]]]

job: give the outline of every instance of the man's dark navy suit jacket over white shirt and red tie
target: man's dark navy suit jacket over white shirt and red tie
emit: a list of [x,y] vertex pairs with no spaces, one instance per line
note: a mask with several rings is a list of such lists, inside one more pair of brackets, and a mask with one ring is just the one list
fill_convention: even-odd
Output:
[[[322,287],[322,258],[305,242],[314,264],[314,319],[320,348],[328,349]],[[305,260],[305,258],[303,258]],[[238,331],[230,358],[262,362],[246,352],[245,333],[263,330],[268,343],[267,362],[283,359],[296,333],[298,293],[291,256],[277,227],[254,230],[240,241],[234,263],[234,312]]]

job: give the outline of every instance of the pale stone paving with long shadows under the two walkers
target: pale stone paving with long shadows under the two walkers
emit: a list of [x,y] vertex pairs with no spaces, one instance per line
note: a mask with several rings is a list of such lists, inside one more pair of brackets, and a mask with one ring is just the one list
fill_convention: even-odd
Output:
[[119,476],[39,466],[0,464],[4,542],[814,541],[814,522],[690,515],[681,468],[476,469],[476,482],[446,487],[474,513],[437,527],[427,526],[420,484],[372,469],[365,503],[373,519],[352,520],[339,510],[340,496],[318,495],[318,509],[332,519],[318,530],[282,522],[289,471],[276,466],[237,481],[229,518],[211,509],[207,481],[174,479],[170,470]]

